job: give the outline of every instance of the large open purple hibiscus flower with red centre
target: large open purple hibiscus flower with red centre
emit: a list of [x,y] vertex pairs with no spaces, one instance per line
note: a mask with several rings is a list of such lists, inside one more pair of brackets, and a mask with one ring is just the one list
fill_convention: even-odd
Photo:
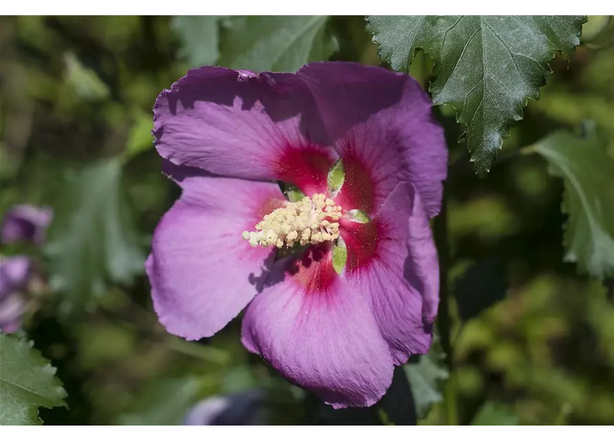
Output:
[[182,196],[146,261],[162,325],[197,340],[248,306],[249,351],[333,408],[375,404],[432,342],[447,149],[431,105],[410,76],[354,63],[201,67],[163,91],[155,143]]

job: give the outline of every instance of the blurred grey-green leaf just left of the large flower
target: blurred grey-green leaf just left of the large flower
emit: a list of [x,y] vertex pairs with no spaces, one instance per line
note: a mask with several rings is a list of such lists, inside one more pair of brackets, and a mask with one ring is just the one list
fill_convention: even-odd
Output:
[[144,254],[122,191],[118,159],[96,162],[72,176],[54,207],[45,250],[50,283],[64,294],[61,313],[90,307],[107,279],[130,283]]

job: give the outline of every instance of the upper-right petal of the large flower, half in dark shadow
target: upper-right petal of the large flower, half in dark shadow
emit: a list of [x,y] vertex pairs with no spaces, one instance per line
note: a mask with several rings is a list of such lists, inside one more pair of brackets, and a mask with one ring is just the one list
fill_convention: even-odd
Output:
[[314,94],[344,163],[338,203],[375,214],[397,184],[410,181],[428,216],[439,212],[448,149],[413,78],[355,63],[312,63],[297,76]]

